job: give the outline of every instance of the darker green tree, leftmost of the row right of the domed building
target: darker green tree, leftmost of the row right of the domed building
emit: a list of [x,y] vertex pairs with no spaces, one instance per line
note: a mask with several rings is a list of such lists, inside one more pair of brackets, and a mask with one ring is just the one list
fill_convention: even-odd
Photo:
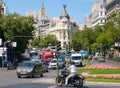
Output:
[[87,47],[90,48],[90,45],[94,42],[95,34],[91,28],[77,31],[72,37],[72,46],[75,50],[87,50]]

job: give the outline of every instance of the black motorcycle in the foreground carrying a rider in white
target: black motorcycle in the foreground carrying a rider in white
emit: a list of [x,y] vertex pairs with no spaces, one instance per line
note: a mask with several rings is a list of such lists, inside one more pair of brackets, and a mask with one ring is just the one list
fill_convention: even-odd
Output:
[[[61,71],[61,74],[56,77],[56,84],[58,86],[63,86],[65,85],[65,79],[66,77],[69,75],[69,71],[64,69]],[[68,85],[71,85],[71,86],[74,86],[74,87],[77,87],[77,88],[80,88],[83,86],[83,83],[84,83],[84,77],[81,76],[81,75],[78,75],[76,74],[74,77],[71,77],[69,80],[68,80]]]

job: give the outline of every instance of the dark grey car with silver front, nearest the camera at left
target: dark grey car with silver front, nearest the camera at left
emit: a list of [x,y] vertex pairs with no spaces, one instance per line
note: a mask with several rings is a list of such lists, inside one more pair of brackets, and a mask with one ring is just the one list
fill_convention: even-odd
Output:
[[36,77],[43,76],[43,66],[41,63],[36,63],[34,61],[23,61],[17,67],[17,77],[21,78],[22,76]]

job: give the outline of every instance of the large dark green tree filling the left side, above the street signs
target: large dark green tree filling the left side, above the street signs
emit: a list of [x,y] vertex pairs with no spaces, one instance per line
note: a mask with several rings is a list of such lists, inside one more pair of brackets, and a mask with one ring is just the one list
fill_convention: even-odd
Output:
[[28,40],[33,36],[33,23],[32,17],[24,17],[16,13],[0,19],[0,28],[3,30],[4,41],[11,40],[17,42],[17,47],[14,48],[16,54],[21,54],[27,48]]

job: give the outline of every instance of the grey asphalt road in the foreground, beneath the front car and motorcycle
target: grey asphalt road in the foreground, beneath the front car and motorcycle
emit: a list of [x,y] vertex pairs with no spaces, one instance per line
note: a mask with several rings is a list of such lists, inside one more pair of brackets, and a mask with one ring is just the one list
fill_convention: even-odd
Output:
[[[55,84],[56,70],[44,74],[44,77],[17,78],[16,70],[0,70],[0,88],[69,88]],[[120,84],[85,82],[82,88],[119,88]],[[70,87],[73,88],[73,87]]]

